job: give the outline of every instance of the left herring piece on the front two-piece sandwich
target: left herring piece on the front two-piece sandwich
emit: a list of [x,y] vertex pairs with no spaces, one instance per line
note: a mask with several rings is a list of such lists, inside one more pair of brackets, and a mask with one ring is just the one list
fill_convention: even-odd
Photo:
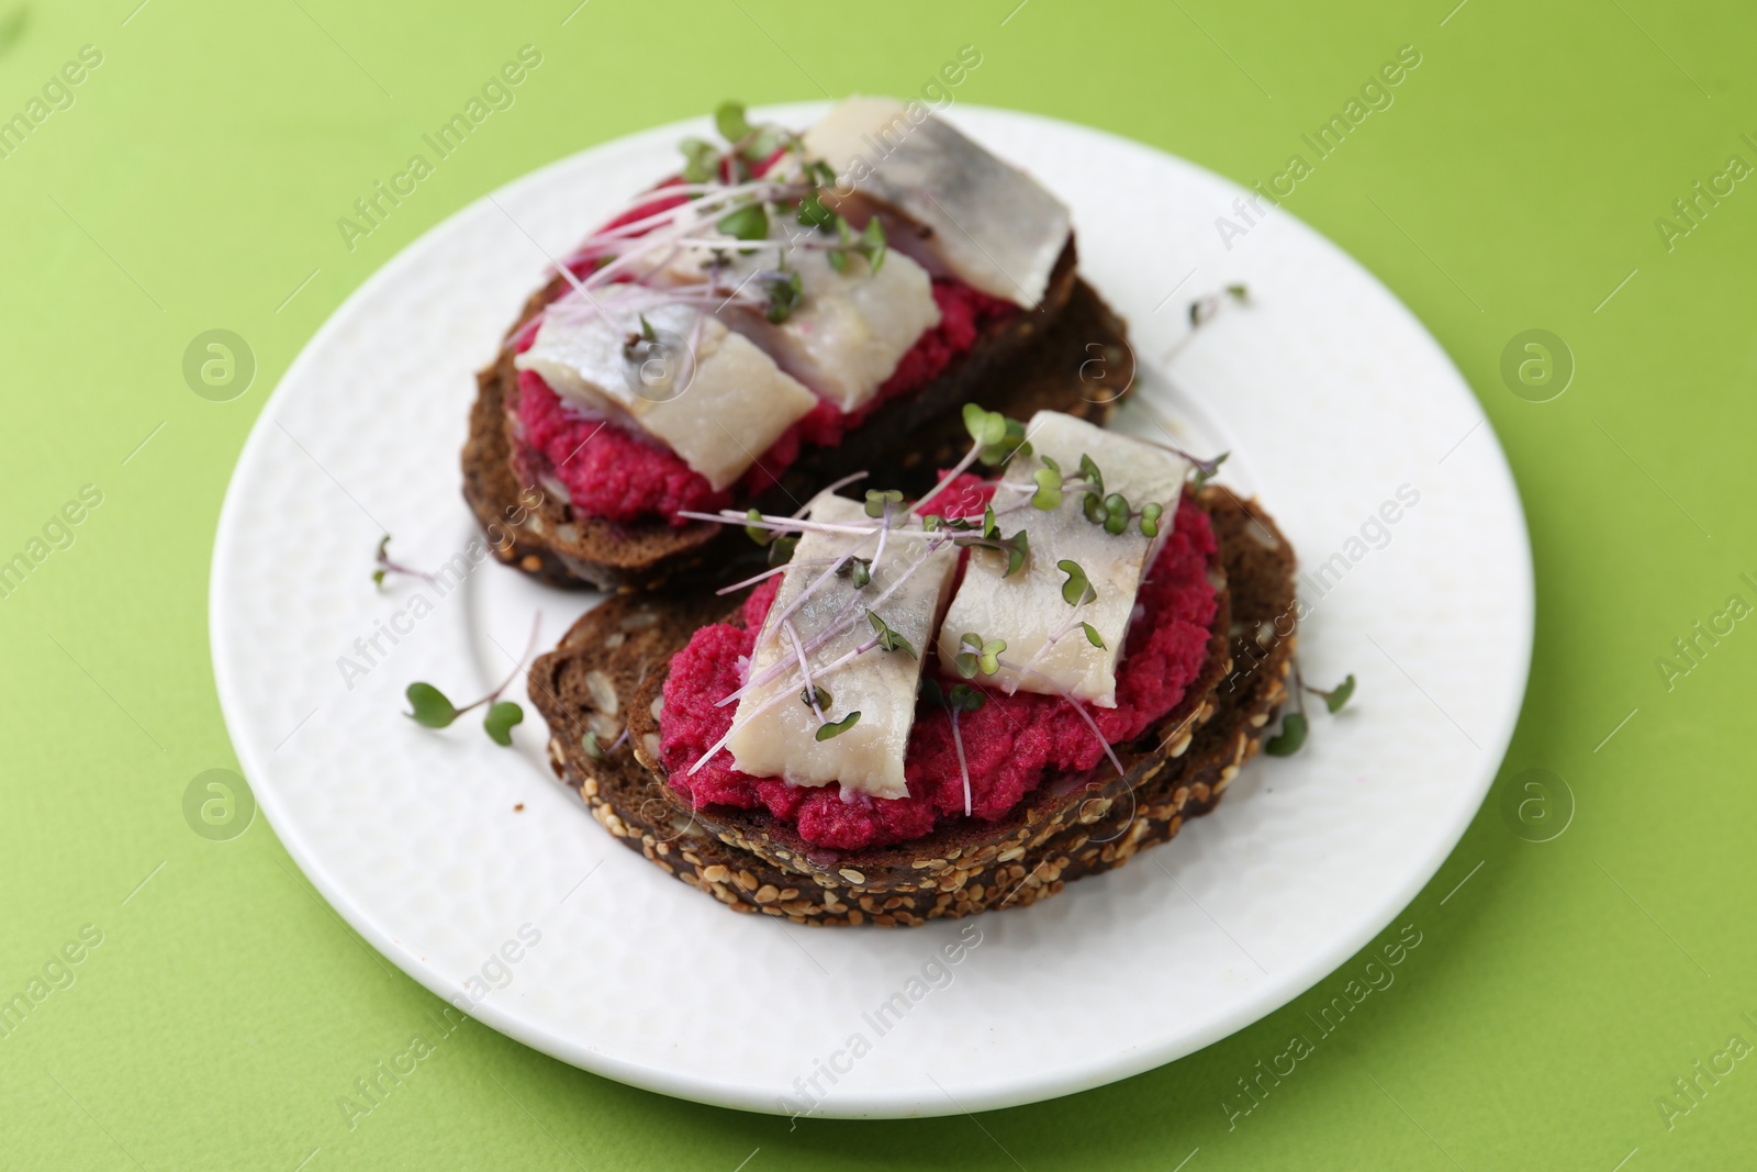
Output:
[[[810,517],[838,525],[875,525],[859,503],[833,494],[821,494],[812,503]],[[748,678],[757,678],[777,662],[798,662],[792,640],[775,622],[777,617],[822,576],[829,568],[828,559],[849,552],[870,559],[877,543],[877,536],[859,534],[806,532],[799,538],[792,564],[782,576],[775,603],[757,633]],[[817,713],[801,699],[803,678],[789,666],[775,680],[750,689],[738,699],[727,749],[740,771],[752,777],[780,777],[796,785],[840,782],[845,791],[873,798],[908,794],[903,754],[915,722],[921,659],[903,650],[887,652],[873,647],[822,680],[817,678],[817,671],[873,636],[864,604],[884,594],[901,575],[907,575],[903,585],[878,604],[877,611],[893,631],[908,640],[917,655],[926,654],[933,638],[933,620],[958,569],[956,546],[945,543],[922,561],[926,548],[921,538],[898,539],[893,534],[884,557],[873,562],[868,585],[856,587],[852,575],[831,576],[792,611],[789,622],[805,645],[829,626],[850,599],[856,603],[854,624],[824,647],[808,652],[806,661],[813,669],[813,684],[829,692],[824,719],[842,720],[850,712],[859,712],[861,719],[829,740],[817,740]],[[915,568],[915,562],[922,564]],[[780,699],[764,708],[775,696]]]

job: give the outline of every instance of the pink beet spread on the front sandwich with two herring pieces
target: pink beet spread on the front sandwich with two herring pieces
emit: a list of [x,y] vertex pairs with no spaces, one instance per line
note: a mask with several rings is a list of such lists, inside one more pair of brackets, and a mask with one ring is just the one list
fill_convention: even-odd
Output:
[[[980,510],[987,492],[975,483],[973,476],[959,478],[942,494],[940,504],[922,511],[935,513],[951,501],[958,501],[952,510],[958,515]],[[1130,627],[1117,666],[1117,706],[1088,708],[1110,745],[1140,736],[1177,706],[1184,689],[1200,675],[1214,622],[1214,585],[1207,569],[1216,550],[1207,513],[1182,501],[1175,529],[1137,596],[1142,611]],[[750,777],[733,768],[733,757],[724,749],[689,773],[731,727],[736,705],[715,705],[741,685],[740,657],[750,655],[756,631],[778,589],[780,578],[770,578],[745,599],[745,626],[703,627],[671,657],[659,726],[661,757],[671,787],[696,807],[766,808],[796,826],[805,842],[835,850],[907,842],[961,819],[965,789],[951,715],[928,701],[915,712],[908,738],[907,798],[856,796],[845,801],[840,785],[805,787],[773,777]],[[926,671],[936,671],[931,648],[928,654]],[[1103,759],[1103,745],[1059,696],[984,691],[987,703],[982,710],[959,715],[975,817],[996,821],[1035,791],[1045,773],[1077,773]]]

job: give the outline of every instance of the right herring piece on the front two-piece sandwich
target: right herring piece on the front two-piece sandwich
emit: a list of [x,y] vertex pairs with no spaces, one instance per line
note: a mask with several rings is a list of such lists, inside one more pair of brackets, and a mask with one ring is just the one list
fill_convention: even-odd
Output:
[[[1033,476],[1044,467],[1042,457],[1056,460],[1061,474],[1074,480],[1081,457],[1089,455],[1103,473],[1107,494],[1121,492],[1133,510],[1149,501],[1165,506],[1160,525],[1161,534],[1170,532],[1189,473],[1188,460],[1059,411],[1033,415],[1026,436],[1031,455],[1016,457],[1009,466],[994,492],[996,510],[1017,504],[1035,490]],[[954,662],[965,633],[1005,640],[1007,664],[986,680],[1009,691],[1066,692],[1098,708],[1116,708],[1116,664],[1128,638],[1147,557],[1158,541],[1144,538],[1135,520],[1121,534],[1105,532],[1103,525],[1086,520],[1082,499],[1084,494],[1070,488],[1054,510],[1026,506],[1001,515],[1003,531],[1023,525],[1030,532],[1031,553],[1019,573],[1003,578],[1005,555],[972,550],[963,585],[940,627],[942,664]],[[1056,562],[1063,559],[1077,562],[1096,592],[1096,599],[1077,610],[1061,597],[1068,575]],[[1098,631],[1103,647],[1091,645],[1081,622]],[[1056,634],[1059,638],[1045,648]],[[1021,673],[1024,664],[1031,669]]]

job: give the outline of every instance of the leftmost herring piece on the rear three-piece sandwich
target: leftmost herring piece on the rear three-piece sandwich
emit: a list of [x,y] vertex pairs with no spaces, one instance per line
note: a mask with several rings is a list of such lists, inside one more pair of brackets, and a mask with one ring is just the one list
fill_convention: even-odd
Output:
[[[636,288],[596,290],[594,299],[608,315],[569,293],[575,300],[562,311],[545,313],[536,339],[513,365],[534,371],[557,395],[592,413],[645,430],[715,490],[726,488],[817,406],[817,397],[717,318],[703,318],[691,306],[654,302],[647,292],[631,292]],[[680,394],[636,390],[640,380],[629,369],[624,346],[631,330],[640,329],[641,315],[654,329],[683,339],[691,339],[701,322],[694,378]]]

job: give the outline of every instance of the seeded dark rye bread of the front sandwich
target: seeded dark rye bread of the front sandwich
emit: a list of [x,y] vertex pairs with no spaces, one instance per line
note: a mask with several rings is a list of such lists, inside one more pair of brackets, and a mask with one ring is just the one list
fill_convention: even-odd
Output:
[[[763,812],[691,810],[652,768],[654,701],[689,636],[729,619],[726,599],[706,592],[608,599],[536,661],[529,689],[550,724],[552,766],[611,835],[734,910],[898,926],[1030,905],[1121,866],[1211,810],[1286,699],[1291,546],[1254,501],[1209,487],[1200,504],[1219,538],[1214,573],[1223,576],[1209,661],[1174,713],[1117,747],[1121,778],[1100,766],[1056,778],[1000,822],[961,821],[910,843],[842,854],[799,843]],[[1258,638],[1265,622],[1269,636]],[[587,754],[585,733],[611,745],[624,726],[627,747]]]

